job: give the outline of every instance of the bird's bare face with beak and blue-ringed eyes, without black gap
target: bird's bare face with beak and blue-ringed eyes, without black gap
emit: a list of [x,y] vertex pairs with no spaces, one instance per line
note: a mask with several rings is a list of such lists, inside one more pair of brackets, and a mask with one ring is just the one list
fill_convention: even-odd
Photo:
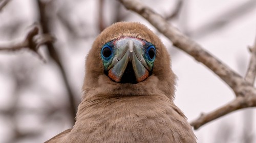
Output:
[[145,80],[152,73],[155,57],[155,46],[135,37],[122,37],[101,48],[104,72],[115,82],[121,81],[129,62],[132,63],[136,81]]

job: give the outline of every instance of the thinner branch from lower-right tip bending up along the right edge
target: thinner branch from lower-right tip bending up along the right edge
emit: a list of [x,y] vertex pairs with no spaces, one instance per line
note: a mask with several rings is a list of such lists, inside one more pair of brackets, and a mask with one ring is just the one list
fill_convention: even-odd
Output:
[[256,107],[256,93],[255,88],[253,88],[253,83],[256,76],[256,38],[254,45],[250,48],[251,51],[251,59],[249,63],[249,67],[247,73],[245,75],[245,80],[250,84],[250,87],[243,86],[239,87],[242,91],[237,95],[237,98],[232,102],[216,109],[210,113],[202,114],[198,119],[192,121],[190,123],[191,126],[194,126],[195,129],[198,129],[202,125],[215,120],[221,116],[226,115],[232,111],[247,108],[247,107]]

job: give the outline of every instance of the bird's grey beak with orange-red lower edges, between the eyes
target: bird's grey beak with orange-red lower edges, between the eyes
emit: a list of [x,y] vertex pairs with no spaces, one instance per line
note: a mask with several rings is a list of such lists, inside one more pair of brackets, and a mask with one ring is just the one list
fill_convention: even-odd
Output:
[[132,37],[114,41],[115,60],[109,66],[112,68],[109,69],[108,76],[116,82],[120,82],[124,76],[132,78],[131,74],[135,76],[137,82],[145,80],[152,69],[145,62],[143,45],[145,45],[143,40]]

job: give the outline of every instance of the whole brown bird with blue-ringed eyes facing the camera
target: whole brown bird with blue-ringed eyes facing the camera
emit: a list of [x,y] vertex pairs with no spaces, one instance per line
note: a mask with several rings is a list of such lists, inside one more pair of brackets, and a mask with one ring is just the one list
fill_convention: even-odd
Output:
[[160,38],[139,22],[116,22],[92,44],[72,129],[46,143],[179,142],[197,138],[175,103],[176,75]]

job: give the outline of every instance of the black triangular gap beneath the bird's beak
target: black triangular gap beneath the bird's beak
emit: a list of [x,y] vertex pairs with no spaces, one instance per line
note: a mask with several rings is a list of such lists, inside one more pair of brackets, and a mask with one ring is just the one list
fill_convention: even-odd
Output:
[[127,64],[126,69],[124,70],[124,73],[121,77],[120,83],[133,83],[133,84],[138,83],[136,81],[132,62],[129,62]]

